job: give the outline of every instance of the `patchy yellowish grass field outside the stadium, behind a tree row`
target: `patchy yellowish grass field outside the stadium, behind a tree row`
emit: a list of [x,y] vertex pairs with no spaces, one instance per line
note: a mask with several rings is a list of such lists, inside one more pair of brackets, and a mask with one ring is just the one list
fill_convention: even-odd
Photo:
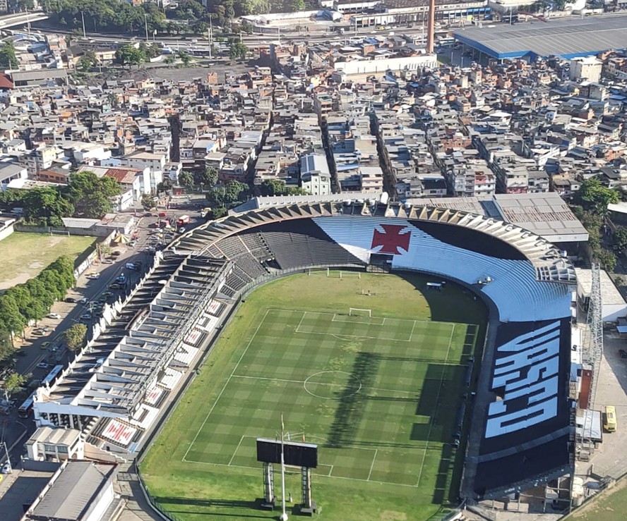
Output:
[[4,266],[0,289],[28,281],[61,255],[75,259],[93,241],[93,237],[78,235],[12,233],[0,241],[0,259]]

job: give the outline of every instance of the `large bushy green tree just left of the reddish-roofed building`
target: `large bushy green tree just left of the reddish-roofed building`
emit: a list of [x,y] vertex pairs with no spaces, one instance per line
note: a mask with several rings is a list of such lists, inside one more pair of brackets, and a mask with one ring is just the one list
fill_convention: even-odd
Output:
[[112,211],[112,198],[121,192],[121,185],[116,179],[109,176],[99,178],[91,171],[84,171],[71,174],[67,197],[78,216],[100,219]]

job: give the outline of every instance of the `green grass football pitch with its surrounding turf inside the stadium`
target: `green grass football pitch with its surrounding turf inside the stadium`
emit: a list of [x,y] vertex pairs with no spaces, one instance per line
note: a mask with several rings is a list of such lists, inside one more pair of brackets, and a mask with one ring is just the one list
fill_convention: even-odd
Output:
[[450,441],[484,308],[453,284],[422,293],[422,276],[332,275],[274,281],[239,307],[141,465],[165,510],[276,517],[256,509],[255,438],[274,439],[281,413],[292,441],[318,443],[318,517],[426,520],[455,500]]

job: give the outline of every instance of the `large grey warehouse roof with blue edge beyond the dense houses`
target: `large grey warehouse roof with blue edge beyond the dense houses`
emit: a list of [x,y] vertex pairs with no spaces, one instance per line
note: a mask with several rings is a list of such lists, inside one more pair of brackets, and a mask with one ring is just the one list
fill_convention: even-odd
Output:
[[456,39],[497,59],[589,56],[627,46],[627,15],[495,24],[453,31]]

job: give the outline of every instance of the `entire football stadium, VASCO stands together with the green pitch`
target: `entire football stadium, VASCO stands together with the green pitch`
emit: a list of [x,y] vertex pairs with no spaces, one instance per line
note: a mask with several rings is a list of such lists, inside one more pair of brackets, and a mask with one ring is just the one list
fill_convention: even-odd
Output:
[[260,443],[281,442],[292,513],[568,502],[574,285],[547,240],[455,209],[234,214],[157,252],[35,417],[103,458],[139,455],[172,519],[276,517],[280,465]]

